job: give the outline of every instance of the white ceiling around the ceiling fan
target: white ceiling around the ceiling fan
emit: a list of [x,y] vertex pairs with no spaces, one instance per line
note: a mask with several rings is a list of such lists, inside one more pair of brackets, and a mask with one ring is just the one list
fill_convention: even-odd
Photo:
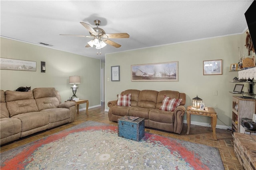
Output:
[[[105,60],[105,53],[241,34],[247,28],[244,13],[252,0],[1,0],[0,3],[2,37],[35,44],[43,42],[54,49]],[[89,36],[80,22],[96,27],[96,19],[101,20],[99,27],[106,34],[126,32],[130,38],[111,39],[122,46],[107,45],[97,55],[95,48],[85,48],[92,38],[59,35]]]

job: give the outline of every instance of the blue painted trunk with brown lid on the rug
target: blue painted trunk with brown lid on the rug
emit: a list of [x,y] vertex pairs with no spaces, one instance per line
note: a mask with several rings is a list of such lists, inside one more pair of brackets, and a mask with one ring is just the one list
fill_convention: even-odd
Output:
[[140,141],[145,134],[144,119],[139,118],[135,121],[127,121],[122,117],[118,119],[118,136],[135,141]]

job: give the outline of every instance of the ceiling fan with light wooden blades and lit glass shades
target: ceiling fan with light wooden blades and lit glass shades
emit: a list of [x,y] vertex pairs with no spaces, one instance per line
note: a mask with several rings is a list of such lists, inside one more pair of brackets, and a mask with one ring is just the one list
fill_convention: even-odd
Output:
[[93,47],[96,46],[96,49],[101,49],[105,47],[107,44],[112,45],[113,47],[119,48],[120,44],[109,40],[110,38],[129,38],[129,34],[127,33],[115,33],[115,34],[106,34],[106,32],[99,28],[100,20],[94,20],[96,28],[92,28],[89,24],[84,22],[80,22],[90,33],[90,36],[80,36],[80,35],[70,35],[70,34],[60,34],[60,36],[78,36],[78,37],[89,37],[93,38],[90,42],[87,43],[85,47]]

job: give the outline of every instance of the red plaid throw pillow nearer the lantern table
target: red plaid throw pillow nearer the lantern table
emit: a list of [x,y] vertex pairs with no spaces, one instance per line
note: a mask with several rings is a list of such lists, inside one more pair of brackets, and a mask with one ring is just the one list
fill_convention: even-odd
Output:
[[180,105],[181,102],[182,99],[170,99],[170,97],[164,96],[164,100],[162,102],[160,110],[173,112],[176,107]]

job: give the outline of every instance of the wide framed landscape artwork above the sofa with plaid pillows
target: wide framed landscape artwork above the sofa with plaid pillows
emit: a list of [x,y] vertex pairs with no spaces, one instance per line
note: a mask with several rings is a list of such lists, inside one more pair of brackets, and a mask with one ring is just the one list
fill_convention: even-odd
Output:
[[178,61],[131,65],[131,81],[178,81]]

